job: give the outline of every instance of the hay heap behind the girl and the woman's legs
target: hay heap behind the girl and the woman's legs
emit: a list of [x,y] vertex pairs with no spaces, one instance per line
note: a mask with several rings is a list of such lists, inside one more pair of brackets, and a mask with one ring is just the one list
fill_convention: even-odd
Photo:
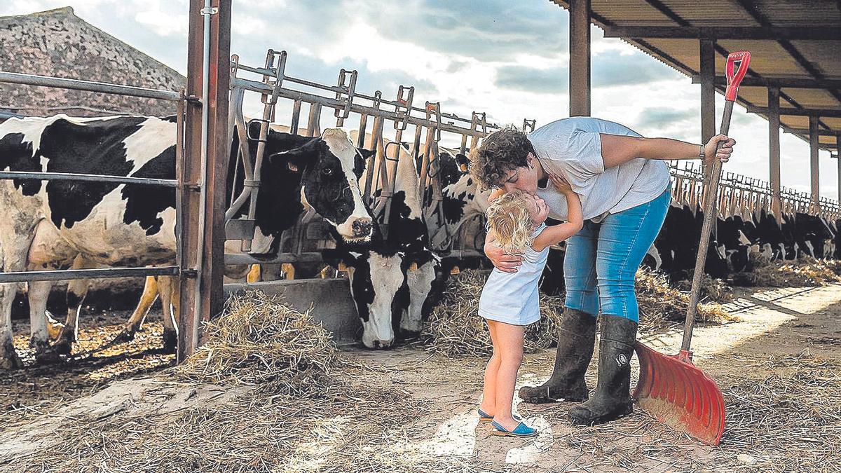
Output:
[[[484,319],[478,315],[479,295],[487,275],[467,270],[451,277],[441,304],[432,311],[421,334],[421,343],[429,351],[447,355],[487,355],[492,352],[490,334]],[[683,322],[689,296],[669,286],[664,274],[648,269],[637,272],[637,302],[640,330],[662,331]],[[558,322],[563,312],[563,295],[541,295],[541,320],[526,328],[523,349],[532,353],[538,348],[558,343]],[[699,322],[722,322],[731,316],[717,303],[698,306]]]

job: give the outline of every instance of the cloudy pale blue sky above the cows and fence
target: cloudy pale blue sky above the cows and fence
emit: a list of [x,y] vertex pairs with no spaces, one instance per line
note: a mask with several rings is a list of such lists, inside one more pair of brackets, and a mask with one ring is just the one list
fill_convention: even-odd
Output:
[[[4,0],[0,15],[71,6],[77,16],[186,73],[186,0]],[[592,112],[644,136],[700,141],[700,86],[621,40],[592,30]],[[442,102],[460,116],[486,111],[499,124],[537,125],[569,114],[569,14],[548,0],[233,0],[231,52],[262,65],[287,50],[287,73],[335,83],[359,72],[357,91],[415,104]],[[723,98],[717,97],[717,110]],[[251,100],[246,112],[259,114]],[[325,114],[326,115],[326,114]],[[283,116],[279,114],[278,116]],[[283,119],[279,121],[284,121]],[[726,170],[768,178],[768,123],[737,106],[737,155]],[[809,147],[780,138],[782,184],[809,189]],[[837,164],[821,151],[821,193],[836,198]]]

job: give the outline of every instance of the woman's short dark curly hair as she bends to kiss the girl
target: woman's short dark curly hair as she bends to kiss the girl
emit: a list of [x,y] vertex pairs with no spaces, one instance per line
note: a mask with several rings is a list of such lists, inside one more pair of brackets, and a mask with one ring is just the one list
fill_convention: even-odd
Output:
[[470,151],[470,173],[481,189],[502,184],[505,173],[528,165],[528,153],[537,154],[526,134],[514,126],[486,136],[482,144]]

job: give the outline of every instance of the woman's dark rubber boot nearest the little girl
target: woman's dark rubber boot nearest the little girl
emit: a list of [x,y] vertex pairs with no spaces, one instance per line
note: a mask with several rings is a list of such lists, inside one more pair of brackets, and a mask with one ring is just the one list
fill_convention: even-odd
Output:
[[593,358],[595,316],[576,309],[564,309],[558,327],[558,350],[552,376],[539,386],[523,386],[520,398],[531,403],[586,401],[584,373]]

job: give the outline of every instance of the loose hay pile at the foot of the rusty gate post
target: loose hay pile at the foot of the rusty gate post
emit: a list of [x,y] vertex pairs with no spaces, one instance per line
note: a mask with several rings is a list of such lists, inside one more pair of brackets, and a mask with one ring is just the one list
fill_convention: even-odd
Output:
[[309,311],[257,290],[231,298],[204,333],[207,343],[176,368],[185,380],[313,396],[331,385],[340,364],[330,332]]

